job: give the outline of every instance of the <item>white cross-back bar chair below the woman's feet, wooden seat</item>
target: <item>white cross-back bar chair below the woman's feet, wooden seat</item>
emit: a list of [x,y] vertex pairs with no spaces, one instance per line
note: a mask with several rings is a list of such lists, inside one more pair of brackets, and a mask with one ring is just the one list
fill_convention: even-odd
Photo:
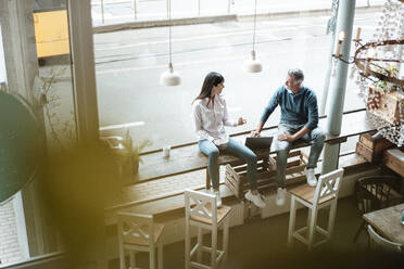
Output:
[[[217,268],[220,260],[226,260],[228,248],[229,234],[229,216],[231,207],[223,205],[216,207],[216,195],[195,192],[191,190],[185,191],[185,208],[186,208],[186,269],[190,267],[197,268]],[[217,249],[217,229],[224,226],[223,249]],[[190,227],[198,227],[198,243],[191,249]],[[202,229],[212,231],[212,247],[203,245]],[[202,264],[202,251],[211,253],[211,265]],[[192,256],[198,252],[197,261],[192,261]]]

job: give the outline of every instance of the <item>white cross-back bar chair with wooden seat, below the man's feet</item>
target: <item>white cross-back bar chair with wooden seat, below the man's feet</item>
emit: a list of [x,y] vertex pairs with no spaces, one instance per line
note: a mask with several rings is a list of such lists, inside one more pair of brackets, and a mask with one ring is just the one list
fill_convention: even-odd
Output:
[[[338,192],[340,190],[343,169],[340,168],[338,170],[320,176],[316,188],[310,187],[308,184],[303,184],[290,190],[292,201],[290,206],[288,233],[289,246],[292,245],[293,239],[298,239],[302,243],[306,244],[308,246],[308,249],[312,249],[313,246],[317,246],[330,240],[336,219]],[[296,202],[308,207],[308,216],[307,226],[295,231],[294,221],[296,215]],[[327,230],[317,226],[318,210],[326,206],[330,206]],[[307,232],[307,230],[308,236],[304,238],[302,234]],[[321,233],[325,236],[325,240],[321,240],[318,243],[314,244],[315,231]]]

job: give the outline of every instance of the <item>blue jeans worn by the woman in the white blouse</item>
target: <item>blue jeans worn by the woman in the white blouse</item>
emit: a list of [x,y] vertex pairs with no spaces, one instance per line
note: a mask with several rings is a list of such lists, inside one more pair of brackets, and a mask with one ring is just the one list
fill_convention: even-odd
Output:
[[[211,177],[213,189],[219,188],[219,166],[218,155],[219,150],[209,140],[200,140],[198,142],[201,152],[209,156],[207,170]],[[256,155],[249,148],[238,143],[233,139],[229,139],[227,144],[220,146],[222,152],[230,153],[245,161],[247,163],[247,177],[250,181],[251,190],[256,190]]]

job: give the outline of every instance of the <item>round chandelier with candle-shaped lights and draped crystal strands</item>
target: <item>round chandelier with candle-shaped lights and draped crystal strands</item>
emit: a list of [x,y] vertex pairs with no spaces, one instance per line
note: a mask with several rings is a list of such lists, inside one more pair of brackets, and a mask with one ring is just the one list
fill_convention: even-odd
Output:
[[397,146],[404,144],[404,0],[387,0],[374,40],[366,43],[357,28],[355,54],[346,61],[340,54],[343,34],[333,54],[334,61],[353,64],[358,95],[363,98],[376,137],[384,137]]

